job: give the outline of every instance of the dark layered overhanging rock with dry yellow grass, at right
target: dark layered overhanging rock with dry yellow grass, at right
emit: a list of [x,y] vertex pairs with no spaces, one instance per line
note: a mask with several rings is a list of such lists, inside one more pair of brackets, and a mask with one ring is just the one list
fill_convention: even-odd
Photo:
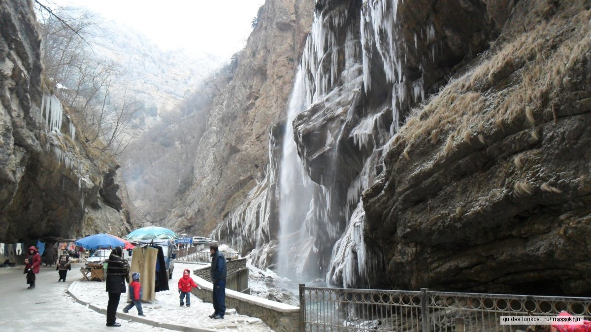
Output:
[[499,37],[447,70],[452,80],[408,116],[363,193],[387,284],[591,291],[591,5],[509,4],[500,15],[484,7]]

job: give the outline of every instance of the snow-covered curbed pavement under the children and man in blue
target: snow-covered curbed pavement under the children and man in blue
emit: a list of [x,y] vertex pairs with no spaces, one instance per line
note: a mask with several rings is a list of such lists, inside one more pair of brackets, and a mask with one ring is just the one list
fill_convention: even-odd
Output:
[[[226,308],[226,315],[223,320],[213,320],[207,317],[213,313],[213,304],[203,302],[193,294],[191,294],[191,307],[180,307],[177,291],[178,279],[180,279],[184,269],[193,271],[197,266],[199,265],[175,262],[173,279],[168,282],[170,290],[155,293],[155,301],[152,303],[142,303],[145,318],[163,323],[212,328],[219,331],[272,331],[261,319],[238,314],[233,308]],[[191,276],[193,276],[192,273]],[[70,291],[82,301],[106,308],[108,295],[105,292],[105,282],[78,281],[70,287]],[[125,305],[127,305],[126,294],[122,294],[117,313],[122,313]],[[131,308],[129,314],[137,314],[137,309],[135,307]],[[118,317],[118,320],[121,320],[121,318]],[[142,326],[145,325],[142,324]]]

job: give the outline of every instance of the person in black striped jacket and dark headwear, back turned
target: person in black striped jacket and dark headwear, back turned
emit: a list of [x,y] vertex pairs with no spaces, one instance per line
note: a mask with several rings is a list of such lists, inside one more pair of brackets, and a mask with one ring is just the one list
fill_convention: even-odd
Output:
[[107,268],[106,291],[109,292],[107,304],[107,326],[121,326],[116,323],[117,307],[121,293],[125,293],[125,281],[129,281],[129,264],[122,258],[123,249],[115,247],[109,255],[109,266]]

